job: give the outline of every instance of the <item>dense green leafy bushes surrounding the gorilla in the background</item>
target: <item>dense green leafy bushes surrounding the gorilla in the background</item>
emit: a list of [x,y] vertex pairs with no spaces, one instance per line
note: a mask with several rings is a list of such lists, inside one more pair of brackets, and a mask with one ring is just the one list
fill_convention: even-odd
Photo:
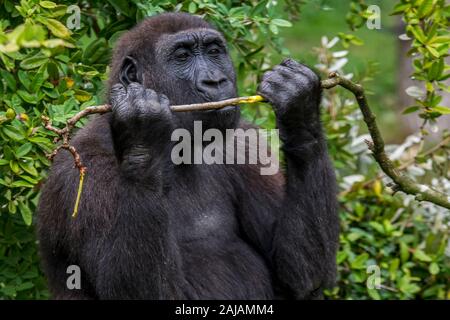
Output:
[[[273,64],[273,55],[288,55],[279,29],[290,27],[293,17],[301,17],[300,1],[108,0],[73,4],[0,1],[0,298],[48,297],[33,231],[39,189],[50,164],[45,154],[54,148],[54,135],[42,127],[41,116],[48,115],[61,127],[78,110],[102,102],[111,48],[121,33],[160,12],[202,15],[229,40],[240,93],[247,95],[255,92],[259,76]],[[355,1],[350,23],[355,24],[357,17],[367,19],[364,9],[361,1]],[[402,0],[395,12],[404,16],[407,36],[413,39],[414,76],[426,84],[423,91],[419,86],[410,90],[417,105],[406,110],[419,112],[426,120],[426,131],[426,125],[448,113],[448,108],[439,104],[439,90],[448,90],[443,81],[448,77],[444,57],[449,8],[445,1]],[[323,75],[329,71],[346,74],[346,49],[361,45],[361,40],[348,33],[332,40],[317,39],[318,45],[320,41],[315,49],[317,69]],[[338,46],[343,47],[336,49]],[[376,86],[367,82],[367,75],[356,80]],[[448,212],[431,204],[419,205],[410,197],[392,197],[386,188],[388,181],[364,145],[367,136],[357,105],[341,90],[326,92],[323,104],[341,187],[342,221],[338,286],[328,296],[447,298]],[[246,108],[244,116],[258,125],[274,126],[273,113],[265,106]],[[445,141],[448,133],[443,135]],[[391,149],[399,153],[397,160],[405,162],[411,156],[405,160],[402,155],[409,154],[406,151],[413,145]],[[417,179],[449,192],[448,145],[435,149],[422,158],[423,150],[418,150],[408,170]],[[371,265],[380,268],[379,289],[366,285],[373,275],[367,269]]]

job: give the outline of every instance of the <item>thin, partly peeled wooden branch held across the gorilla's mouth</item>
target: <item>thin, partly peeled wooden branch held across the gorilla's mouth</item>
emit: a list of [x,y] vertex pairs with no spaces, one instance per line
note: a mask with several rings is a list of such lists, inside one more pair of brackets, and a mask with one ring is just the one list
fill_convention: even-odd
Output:
[[[401,173],[398,170],[398,168],[395,167],[392,160],[389,159],[389,156],[386,154],[386,151],[384,149],[385,143],[381,136],[378,125],[376,123],[375,115],[372,113],[369,107],[366,96],[364,94],[364,89],[361,85],[353,83],[352,81],[346,78],[340,77],[337,73],[333,72],[329,75],[328,79],[323,80],[321,82],[321,86],[323,89],[331,89],[336,86],[341,86],[354,94],[358,106],[363,114],[364,122],[372,138],[372,141],[366,141],[366,143],[369,149],[372,151],[373,157],[375,158],[375,161],[379,164],[381,170],[394,181],[395,186],[393,189],[395,191],[403,191],[407,194],[414,195],[418,201],[429,201],[441,207],[450,209],[449,195],[433,190],[429,186],[415,182],[410,177]],[[226,106],[238,105],[241,103],[256,103],[264,101],[265,100],[262,96],[255,95],[248,97],[233,98],[218,102],[171,106],[170,108],[173,112],[202,111],[202,110],[220,109]],[[63,129],[53,127],[51,125],[50,119],[47,117],[43,117],[42,119],[44,121],[45,128],[56,133],[58,135],[57,140],[62,139],[63,141],[60,146],[58,146],[50,155],[48,155],[48,157],[52,159],[60,149],[69,150],[72,153],[72,156],[74,157],[75,166],[80,170],[80,181],[82,181],[82,177],[84,177],[84,174],[86,172],[86,167],[84,167],[83,164],[81,163],[80,156],[75,150],[75,148],[69,144],[71,130],[75,127],[76,123],[83,117],[89,114],[94,113],[101,114],[109,111],[111,111],[111,106],[107,104],[87,107],[86,109],[80,111],[75,116],[70,118],[67,121],[66,127]],[[77,199],[79,199],[79,194],[77,195]],[[77,207],[78,205],[76,205],[75,209],[77,209]]]

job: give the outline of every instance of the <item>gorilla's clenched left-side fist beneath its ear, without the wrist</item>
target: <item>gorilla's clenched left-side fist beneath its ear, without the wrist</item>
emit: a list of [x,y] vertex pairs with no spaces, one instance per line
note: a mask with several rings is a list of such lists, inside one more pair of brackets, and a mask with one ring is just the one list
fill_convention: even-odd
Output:
[[112,125],[120,147],[126,144],[147,145],[162,132],[169,132],[173,118],[169,99],[141,84],[111,88]]

